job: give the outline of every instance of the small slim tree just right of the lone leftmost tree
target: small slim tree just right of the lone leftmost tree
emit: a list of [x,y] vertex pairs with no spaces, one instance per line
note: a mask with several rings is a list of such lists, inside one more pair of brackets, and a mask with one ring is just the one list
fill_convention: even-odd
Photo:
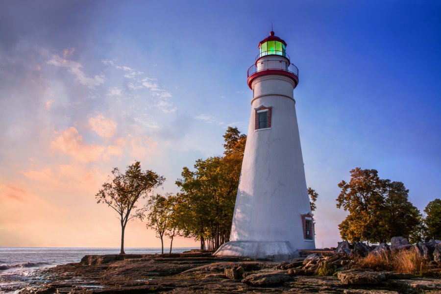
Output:
[[152,228],[161,239],[161,254],[164,253],[164,234],[170,226],[173,212],[172,202],[167,197],[157,194],[147,201],[147,228]]

